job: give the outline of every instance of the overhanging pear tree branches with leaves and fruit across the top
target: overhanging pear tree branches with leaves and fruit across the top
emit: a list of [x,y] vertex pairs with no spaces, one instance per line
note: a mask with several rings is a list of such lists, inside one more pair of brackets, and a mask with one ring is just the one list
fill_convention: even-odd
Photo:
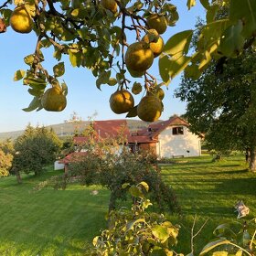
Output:
[[[35,51],[24,59],[27,70],[15,72],[14,79],[23,80],[33,96],[24,111],[62,111],[66,107],[68,86],[59,78],[65,74],[62,56],[68,55],[73,67],[91,69],[100,90],[101,84],[116,86],[110,97],[113,112],[138,115],[148,122],[157,120],[163,111],[159,91],[179,72],[185,70],[193,78],[211,59],[235,58],[255,45],[255,0],[198,2],[206,10],[206,24],[200,28],[193,50],[197,29],[177,33],[163,47],[161,35],[179,19],[179,10],[171,1],[15,0],[14,8],[13,1],[6,0],[0,5],[0,32],[12,27],[17,33],[37,35]],[[188,9],[194,5],[196,0],[187,0]],[[223,6],[229,15],[216,20]],[[57,60],[52,70],[44,68],[46,48],[52,48]],[[161,80],[149,72],[157,58]],[[140,93],[145,96],[135,104],[133,94]]]

